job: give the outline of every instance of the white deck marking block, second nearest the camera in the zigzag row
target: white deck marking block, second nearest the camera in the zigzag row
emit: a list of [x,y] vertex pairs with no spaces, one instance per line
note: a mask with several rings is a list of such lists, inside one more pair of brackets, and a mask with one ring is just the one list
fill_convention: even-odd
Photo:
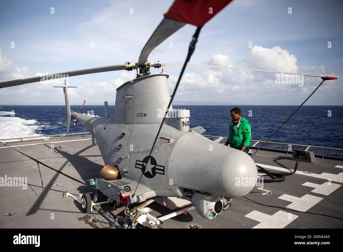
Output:
[[306,212],[308,209],[310,209],[312,206],[316,205],[319,201],[323,199],[321,197],[313,196],[310,194],[305,194],[301,198],[284,194],[278,198],[281,200],[292,202],[286,207],[297,210],[297,211],[301,211],[301,212]]

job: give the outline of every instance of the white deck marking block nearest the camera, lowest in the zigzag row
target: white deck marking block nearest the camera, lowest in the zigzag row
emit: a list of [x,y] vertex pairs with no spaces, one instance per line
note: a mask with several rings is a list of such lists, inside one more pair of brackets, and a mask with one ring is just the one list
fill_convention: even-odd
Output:
[[281,210],[273,215],[264,214],[254,210],[248,213],[245,217],[260,222],[260,224],[257,224],[253,228],[284,228],[293,220],[298,218],[298,216],[295,214],[287,213]]

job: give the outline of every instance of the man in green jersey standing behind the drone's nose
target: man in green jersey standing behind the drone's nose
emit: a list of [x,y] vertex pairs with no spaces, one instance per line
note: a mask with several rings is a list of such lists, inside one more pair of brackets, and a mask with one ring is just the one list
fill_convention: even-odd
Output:
[[237,107],[231,109],[230,113],[232,121],[225,145],[248,153],[251,140],[250,122],[241,115],[240,109]]

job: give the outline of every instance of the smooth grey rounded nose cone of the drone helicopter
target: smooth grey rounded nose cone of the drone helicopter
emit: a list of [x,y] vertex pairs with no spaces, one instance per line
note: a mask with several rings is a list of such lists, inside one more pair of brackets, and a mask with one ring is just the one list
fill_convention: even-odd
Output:
[[257,181],[248,154],[191,132],[175,145],[168,172],[180,187],[227,197],[249,193]]

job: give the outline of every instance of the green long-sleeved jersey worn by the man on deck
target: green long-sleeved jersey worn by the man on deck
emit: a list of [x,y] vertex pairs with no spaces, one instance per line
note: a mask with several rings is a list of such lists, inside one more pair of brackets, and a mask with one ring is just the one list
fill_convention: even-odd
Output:
[[230,123],[228,142],[230,146],[241,148],[243,145],[249,146],[251,141],[250,122],[242,117],[239,128]]

